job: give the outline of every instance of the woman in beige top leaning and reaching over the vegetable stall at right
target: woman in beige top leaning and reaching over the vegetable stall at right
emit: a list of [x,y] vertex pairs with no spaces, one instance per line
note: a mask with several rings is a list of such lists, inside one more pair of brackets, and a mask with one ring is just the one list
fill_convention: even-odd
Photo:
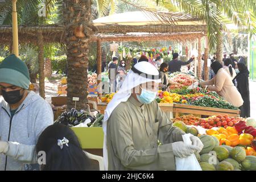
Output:
[[243,105],[241,94],[238,92],[236,86],[234,86],[229,74],[222,68],[222,64],[214,61],[210,67],[212,67],[215,76],[209,81],[200,82],[200,85],[210,91],[217,92],[226,101],[236,107]]

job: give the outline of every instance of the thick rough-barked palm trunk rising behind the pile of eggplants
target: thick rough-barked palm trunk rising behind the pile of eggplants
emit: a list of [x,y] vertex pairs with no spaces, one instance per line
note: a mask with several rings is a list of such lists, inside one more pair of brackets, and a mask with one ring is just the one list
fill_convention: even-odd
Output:
[[64,0],[64,25],[68,61],[68,109],[85,109],[88,85],[88,40],[93,34],[90,0]]

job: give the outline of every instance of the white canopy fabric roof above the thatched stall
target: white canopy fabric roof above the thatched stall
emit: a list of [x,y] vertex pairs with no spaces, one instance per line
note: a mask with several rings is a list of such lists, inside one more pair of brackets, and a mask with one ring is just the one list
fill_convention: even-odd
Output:
[[[176,18],[177,14],[180,13],[172,13],[174,15],[175,23],[177,25],[203,25],[205,24],[201,20],[195,20],[192,18],[188,18],[187,15],[180,16],[180,18]],[[168,16],[170,16],[169,14]],[[160,21],[159,19],[162,19]],[[190,19],[190,20],[189,20]],[[106,24],[121,24],[121,25],[130,25],[130,26],[142,26],[147,24],[164,24],[164,20],[159,15],[156,17],[153,13],[144,12],[144,11],[130,11],[125,13],[113,14],[109,16],[104,16],[98,19],[93,20],[94,26],[104,26]]]

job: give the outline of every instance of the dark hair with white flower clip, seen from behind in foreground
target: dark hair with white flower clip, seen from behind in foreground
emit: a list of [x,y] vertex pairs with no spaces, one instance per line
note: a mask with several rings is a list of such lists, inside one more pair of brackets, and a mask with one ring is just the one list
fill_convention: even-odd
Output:
[[[68,146],[58,146],[58,139],[68,139]],[[89,169],[89,158],[80,146],[73,130],[61,123],[48,126],[38,139],[36,152],[46,152],[46,164],[43,171],[84,171]]]

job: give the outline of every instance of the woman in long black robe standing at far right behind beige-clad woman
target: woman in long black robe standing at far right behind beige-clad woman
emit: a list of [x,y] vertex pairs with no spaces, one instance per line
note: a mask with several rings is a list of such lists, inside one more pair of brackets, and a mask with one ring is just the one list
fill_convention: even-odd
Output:
[[250,89],[249,89],[249,74],[247,67],[243,63],[237,63],[238,73],[234,78],[237,82],[237,89],[243,98],[243,105],[240,107],[241,117],[250,117]]

